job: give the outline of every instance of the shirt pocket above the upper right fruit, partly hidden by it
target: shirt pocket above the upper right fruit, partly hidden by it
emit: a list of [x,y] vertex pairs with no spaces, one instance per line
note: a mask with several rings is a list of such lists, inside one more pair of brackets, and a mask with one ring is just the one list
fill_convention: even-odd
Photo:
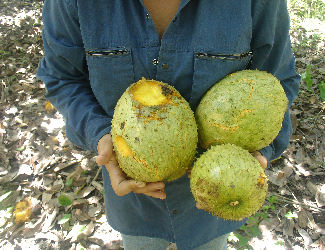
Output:
[[251,59],[250,51],[236,54],[195,52],[191,106],[195,109],[205,92],[226,75],[249,68]]

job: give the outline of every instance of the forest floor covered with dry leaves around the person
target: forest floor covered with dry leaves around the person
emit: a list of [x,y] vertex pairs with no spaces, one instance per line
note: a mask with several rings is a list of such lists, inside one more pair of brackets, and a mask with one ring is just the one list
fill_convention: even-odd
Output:
[[[0,249],[122,249],[106,222],[95,155],[66,139],[35,77],[42,4],[0,0]],[[231,234],[229,249],[325,249],[325,2],[291,0],[289,8],[303,77],[294,133],[266,170],[264,206]]]

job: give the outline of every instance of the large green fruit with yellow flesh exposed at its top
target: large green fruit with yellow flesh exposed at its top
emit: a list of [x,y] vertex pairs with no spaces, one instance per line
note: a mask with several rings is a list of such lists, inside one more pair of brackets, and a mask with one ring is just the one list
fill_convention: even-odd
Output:
[[111,134],[121,169],[144,182],[183,176],[193,163],[198,142],[187,101],[172,86],[144,78],[119,99]]

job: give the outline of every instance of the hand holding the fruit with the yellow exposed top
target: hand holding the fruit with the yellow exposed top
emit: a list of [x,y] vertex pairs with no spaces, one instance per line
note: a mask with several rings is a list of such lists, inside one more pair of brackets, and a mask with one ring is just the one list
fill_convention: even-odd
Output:
[[159,199],[166,198],[166,193],[164,192],[165,184],[163,182],[145,183],[129,179],[126,176],[117,163],[110,134],[104,135],[98,141],[97,152],[96,163],[106,167],[116,195],[124,196],[134,192]]

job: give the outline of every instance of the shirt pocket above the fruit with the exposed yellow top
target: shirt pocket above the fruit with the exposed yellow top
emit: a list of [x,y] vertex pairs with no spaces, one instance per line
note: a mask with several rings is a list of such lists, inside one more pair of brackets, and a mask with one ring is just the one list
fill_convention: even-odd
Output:
[[134,82],[132,51],[125,47],[88,49],[86,58],[94,95],[106,113],[112,114],[118,99]]

